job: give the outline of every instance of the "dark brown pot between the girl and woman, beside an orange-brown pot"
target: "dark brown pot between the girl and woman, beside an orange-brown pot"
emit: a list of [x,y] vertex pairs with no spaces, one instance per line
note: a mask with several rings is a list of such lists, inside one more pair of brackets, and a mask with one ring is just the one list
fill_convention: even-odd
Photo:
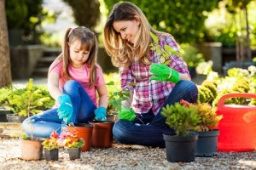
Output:
[[90,121],[93,125],[91,146],[98,148],[110,148],[113,144],[112,121]]

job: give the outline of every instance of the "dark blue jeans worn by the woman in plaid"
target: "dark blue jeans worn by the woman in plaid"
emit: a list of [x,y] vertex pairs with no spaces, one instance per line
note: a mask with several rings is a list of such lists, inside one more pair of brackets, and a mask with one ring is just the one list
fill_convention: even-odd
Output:
[[[171,94],[169,94],[162,107],[173,105],[179,102],[180,99],[187,100],[190,103],[196,103],[197,97],[198,90],[195,83],[181,80],[172,89]],[[162,116],[160,111],[156,116],[149,111],[145,114],[145,117],[137,116],[133,122],[124,120],[115,122],[113,126],[114,138],[122,144],[165,147],[163,133],[175,133],[175,131],[166,125],[166,117]]]

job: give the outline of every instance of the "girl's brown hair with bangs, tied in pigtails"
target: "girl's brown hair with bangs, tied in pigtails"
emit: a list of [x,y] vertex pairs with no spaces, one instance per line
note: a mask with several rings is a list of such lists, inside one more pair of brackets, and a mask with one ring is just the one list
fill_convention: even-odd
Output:
[[[96,59],[98,52],[98,43],[96,40],[96,35],[90,29],[80,26],[77,28],[68,28],[64,40],[62,42],[62,54],[58,57],[55,65],[63,61],[63,67],[61,69],[61,77],[63,77],[63,81],[67,82],[67,80],[73,79],[68,72],[68,64],[71,62],[69,45],[74,41],[79,40],[81,42],[81,49],[85,51],[90,51],[88,59],[85,61],[85,64],[90,68],[90,87],[94,86],[96,83]],[[52,65],[52,68],[55,67]],[[52,70],[49,69],[49,71]]]

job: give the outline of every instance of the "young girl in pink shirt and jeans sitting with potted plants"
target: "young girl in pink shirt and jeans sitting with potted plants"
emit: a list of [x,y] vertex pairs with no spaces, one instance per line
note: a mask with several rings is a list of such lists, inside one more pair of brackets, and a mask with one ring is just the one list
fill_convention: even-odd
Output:
[[49,66],[48,88],[55,106],[22,123],[27,135],[48,138],[53,130],[61,133],[61,122],[106,120],[108,90],[96,57],[94,32],[84,26],[67,29],[62,53]]

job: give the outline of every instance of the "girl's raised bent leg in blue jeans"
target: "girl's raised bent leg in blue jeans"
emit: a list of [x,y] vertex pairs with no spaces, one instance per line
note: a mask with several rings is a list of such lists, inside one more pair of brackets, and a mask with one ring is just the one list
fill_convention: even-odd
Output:
[[79,82],[73,80],[67,81],[63,87],[63,93],[70,95],[72,98],[72,122],[82,123],[94,119],[94,110],[96,110],[96,106]]

